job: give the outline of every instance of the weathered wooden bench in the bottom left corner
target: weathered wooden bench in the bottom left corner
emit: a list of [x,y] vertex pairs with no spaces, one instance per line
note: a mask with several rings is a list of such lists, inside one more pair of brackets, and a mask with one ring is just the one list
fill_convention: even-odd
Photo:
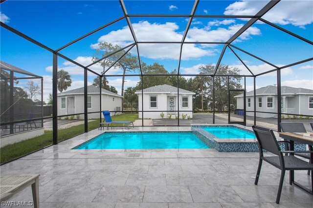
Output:
[[31,185],[34,208],[39,208],[39,174],[33,175],[1,175],[0,195],[1,202]]

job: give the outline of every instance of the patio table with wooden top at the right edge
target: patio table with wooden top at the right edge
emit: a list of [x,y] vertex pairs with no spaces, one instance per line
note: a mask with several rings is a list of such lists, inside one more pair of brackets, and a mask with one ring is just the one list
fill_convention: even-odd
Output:
[[[280,137],[282,137],[285,140],[290,141],[290,150],[291,151],[294,151],[294,142],[313,146],[313,134],[312,133],[292,133],[292,132],[278,132],[278,133],[279,133]],[[312,149],[310,149],[310,150],[312,150]],[[313,153],[311,153],[311,158],[312,157],[313,157]],[[311,174],[313,174],[313,173],[311,173]],[[294,184],[295,186],[300,187],[303,190],[305,190],[305,191],[307,191],[313,195],[312,190],[308,189],[307,187],[300,185],[297,182],[294,182],[294,171],[293,170],[290,170],[289,183]],[[313,187],[311,187],[311,188],[313,188]]]

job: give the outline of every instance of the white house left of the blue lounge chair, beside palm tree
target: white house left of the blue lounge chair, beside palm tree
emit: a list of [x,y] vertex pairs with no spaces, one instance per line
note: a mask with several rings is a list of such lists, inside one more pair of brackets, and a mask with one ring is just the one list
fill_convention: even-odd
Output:
[[[122,107],[122,98],[118,94],[101,89],[100,109],[100,88],[94,85],[87,86],[88,118],[99,118],[100,110],[119,111]],[[84,87],[58,93],[58,115],[84,113]],[[83,119],[84,115],[80,115]]]

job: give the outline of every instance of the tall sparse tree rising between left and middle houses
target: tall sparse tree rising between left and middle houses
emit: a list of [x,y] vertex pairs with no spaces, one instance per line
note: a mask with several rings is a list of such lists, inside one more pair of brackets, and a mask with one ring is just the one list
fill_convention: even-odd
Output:
[[[112,43],[102,42],[98,44],[98,49],[95,51],[95,55],[92,57],[93,61],[99,60],[98,56],[101,55],[105,57],[112,52],[120,50],[122,47],[119,45],[112,45]],[[131,53],[125,54],[125,50],[121,50],[115,54],[112,54],[108,58],[102,60],[101,65],[103,66],[103,72],[105,71],[106,67],[110,67],[114,62],[114,68],[121,68],[123,70],[123,77],[122,77],[122,89],[121,95],[124,96],[124,83],[125,83],[125,74],[126,72],[134,72],[139,69],[138,58],[132,56]],[[125,54],[125,55],[124,55]],[[124,55],[124,56],[123,56]],[[122,57],[123,56],[123,57]],[[121,58],[122,57],[122,58]],[[120,59],[121,58],[121,59]],[[123,110],[123,106],[122,106]]]

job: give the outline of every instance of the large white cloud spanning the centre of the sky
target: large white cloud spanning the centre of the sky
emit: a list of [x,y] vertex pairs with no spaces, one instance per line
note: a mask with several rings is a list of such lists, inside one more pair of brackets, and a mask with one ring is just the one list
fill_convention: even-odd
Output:
[[[221,21],[219,24],[231,23],[230,21]],[[218,22],[215,22],[217,24]],[[227,28],[217,28],[215,30],[208,30],[208,28],[190,28],[186,42],[225,42],[233,34],[235,34],[243,24],[233,24]],[[179,26],[175,22],[166,23],[150,23],[148,21],[139,21],[133,23],[134,32],[138,41],[168,41],[180,42],[182,40],[183,32],[178,31]],[[260,35],[261,31],[257,27],[250,27],[247,29],[237,41],[249,39],[252,35]],[[134,42],[133,37],[129,31],[129,27],[125,26],[122,29],[111,31],[110,33],[101,36],[99,42],[110,42],[112,44],[124,47]],[[91,44],[91,48],[97,48],[98,43]],[[140,55],[150,59],[179,59],[179,44],[139,44]],[[216,45],[199,45],[184,44],[182,59],[194,59],[203,56],[216,55],[216,50],[206,50],[206,48],[216,47]],[[187,50],[188,49],[188,50]]]

